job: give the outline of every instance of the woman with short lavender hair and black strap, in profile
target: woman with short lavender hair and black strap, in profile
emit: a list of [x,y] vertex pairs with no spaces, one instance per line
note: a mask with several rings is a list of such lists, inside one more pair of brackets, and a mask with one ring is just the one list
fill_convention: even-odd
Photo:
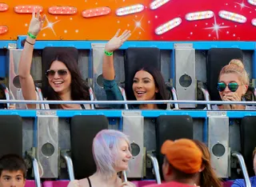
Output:
[[118,177],[118,173],[122,174],[122,171],[128,169],[128,162],[132,157],[130,141],[124,133],[112,129],[100,131],[94,137],[93,155],[97,166],[96,173],[79,181],[70,181],[68,187],[135,187],[133,183],[122,181]]

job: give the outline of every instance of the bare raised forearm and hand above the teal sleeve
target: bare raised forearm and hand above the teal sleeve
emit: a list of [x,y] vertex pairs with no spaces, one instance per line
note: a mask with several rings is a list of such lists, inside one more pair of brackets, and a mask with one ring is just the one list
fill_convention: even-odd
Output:
[[123,42],[130,37],[130,30],[125,30],[120,36],[118,36],[120,30],[106,43],[105,55],[103,57],[102,74],[106,80],[114,80],[114,60],[113,52],[118,50],[122,46]]

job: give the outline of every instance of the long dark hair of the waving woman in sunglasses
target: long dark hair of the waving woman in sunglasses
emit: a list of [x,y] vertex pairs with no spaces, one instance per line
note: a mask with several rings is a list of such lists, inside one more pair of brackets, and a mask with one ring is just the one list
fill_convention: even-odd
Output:
[[[86,82],[83,81],[82,75],[78,68],[78,62],[72,56],[65,53],[58,53],[51,59],[49,68],[54,61],[62,62],[66,65],[67,69],[70,71],[71,75],[71,98],[73,101],[86,101],[90,100],[89,86]],[[49,82],[46,83],[46,95],[47,100],[62,100],[59,97],[58,93],[49,85]],[[50,105],[50,109],[62,109],[62,105]]]

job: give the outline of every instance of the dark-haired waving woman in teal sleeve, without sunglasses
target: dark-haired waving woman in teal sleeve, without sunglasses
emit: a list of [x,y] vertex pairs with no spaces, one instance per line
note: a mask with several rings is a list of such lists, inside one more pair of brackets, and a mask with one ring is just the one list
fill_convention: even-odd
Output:
[[[122,94],[114,80],[114,61],[113,52],[122,46],[123,42],[130,37],[130,31],[125,30],[120,36],[119,31],[110,39],[105,46],[105,55],[103,58],[102,74],[103,86],[106,91],[107,100],[116,101],[123,100]],[[169,100],[166,85],[162,74],[154,67],[143,67],[134,74],[134,100]],[[118,105],[114,107],[120,108]],[[166,104],[146,104],[146,105],[130,105],[132,109],[166,109]]]

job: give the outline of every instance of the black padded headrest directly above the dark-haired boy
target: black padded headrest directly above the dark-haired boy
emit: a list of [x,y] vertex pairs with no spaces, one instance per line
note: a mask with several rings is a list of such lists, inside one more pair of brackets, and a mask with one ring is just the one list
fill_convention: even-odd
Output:
[[22,157],[22,117],[0,116],[0,142],[0,157],[10,153]]

